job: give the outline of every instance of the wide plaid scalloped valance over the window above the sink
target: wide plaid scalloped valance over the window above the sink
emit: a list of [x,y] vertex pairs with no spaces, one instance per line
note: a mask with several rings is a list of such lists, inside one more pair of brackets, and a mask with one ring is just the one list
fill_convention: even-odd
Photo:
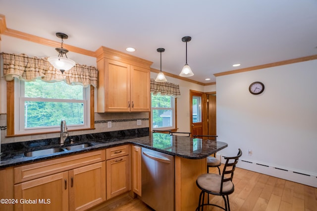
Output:
[[23,81],[40,79],[46,82],[64,81],[70,85],[93,85],[97,87],[98,70],[94,66],[76,64],[62,74],[55,69],[47,58],[29,57],[25,54],[1,53],[3,76],[6,81],[18,78]]

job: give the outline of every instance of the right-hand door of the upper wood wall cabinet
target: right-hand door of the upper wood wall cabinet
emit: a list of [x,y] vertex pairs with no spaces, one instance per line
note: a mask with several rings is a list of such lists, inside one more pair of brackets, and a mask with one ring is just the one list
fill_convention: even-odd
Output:
[[150,111],[150,70],[131,66],[131,111]]

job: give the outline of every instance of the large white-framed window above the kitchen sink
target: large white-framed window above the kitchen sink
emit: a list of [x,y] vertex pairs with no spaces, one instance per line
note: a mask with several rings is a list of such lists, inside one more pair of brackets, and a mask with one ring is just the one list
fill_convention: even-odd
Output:
[[16,134],[58,131],[62,119],[68,129],[89,127],[89,87],[65,82],[15,80]]

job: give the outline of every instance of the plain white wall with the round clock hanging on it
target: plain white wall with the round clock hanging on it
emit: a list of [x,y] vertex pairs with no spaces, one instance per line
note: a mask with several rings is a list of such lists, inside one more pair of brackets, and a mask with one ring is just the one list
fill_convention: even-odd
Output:
[[[242,159],[313,175],[317,186],[316,80],[317,60],[217,77],[217,135],[228,143],[220,153],[241,148]],[[255,81],[260,95],[249,92]]]

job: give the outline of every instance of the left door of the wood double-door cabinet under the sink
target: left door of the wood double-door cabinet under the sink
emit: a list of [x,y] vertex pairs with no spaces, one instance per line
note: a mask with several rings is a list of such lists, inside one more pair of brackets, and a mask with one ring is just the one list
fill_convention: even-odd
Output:
[[14,198],[16,211],[68,211],[68,172],[14,185]]

